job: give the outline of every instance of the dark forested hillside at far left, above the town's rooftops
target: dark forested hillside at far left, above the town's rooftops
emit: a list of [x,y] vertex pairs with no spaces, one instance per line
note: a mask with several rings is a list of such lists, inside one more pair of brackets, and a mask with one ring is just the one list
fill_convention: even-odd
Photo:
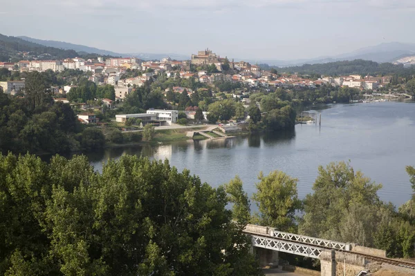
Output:
[[0,34],[0,61],[8,61],[9,59],[12,59],[14,62],[18,61],[18,59],[22,58],[19,52],[30,52],[30,55],[35,56],[48,54],[47,56],[50,59],[64,59],[79,56],[74,50],[46,47],[17,37],[8,37]]

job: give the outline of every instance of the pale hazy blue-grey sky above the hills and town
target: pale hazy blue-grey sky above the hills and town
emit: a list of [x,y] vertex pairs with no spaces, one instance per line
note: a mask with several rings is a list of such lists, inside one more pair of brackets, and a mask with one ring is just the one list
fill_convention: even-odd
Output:
[[300,59],[415,43],[415,0],[0,0],[0,33],[115,52]]

